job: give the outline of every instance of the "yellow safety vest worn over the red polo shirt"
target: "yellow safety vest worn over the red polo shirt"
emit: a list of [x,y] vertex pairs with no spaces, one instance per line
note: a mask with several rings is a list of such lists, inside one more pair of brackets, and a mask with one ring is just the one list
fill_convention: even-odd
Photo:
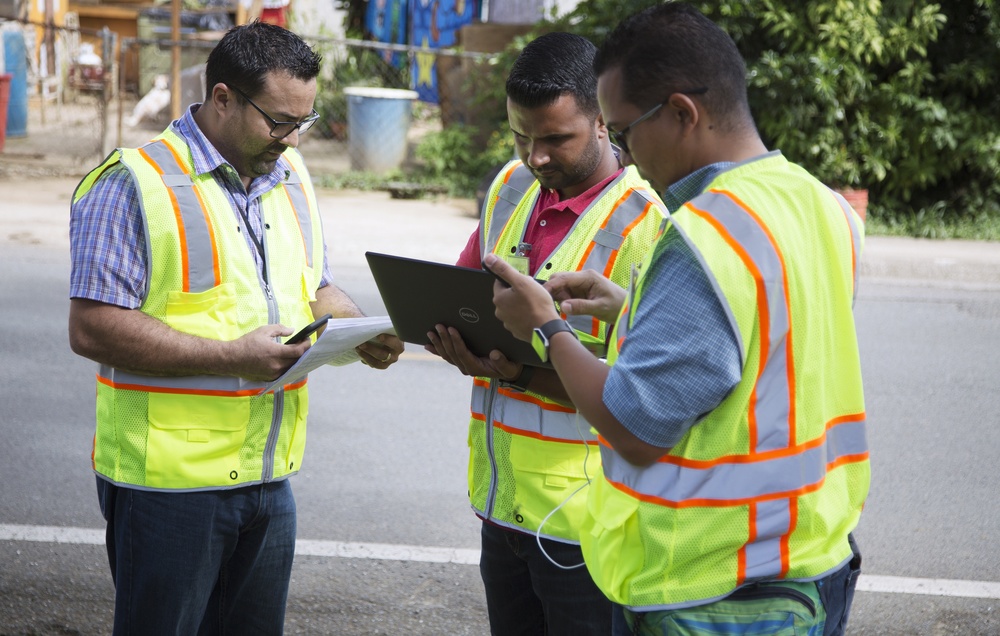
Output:
[[[481,253],[505,256],[523,240],[539,188],[520,161],[500,172],[483,206]],[[580,215],[535,278],[586,268],[624,287],[632,266],[652,247],[664,209],[635,169],[626,169]],[[574,316],[570,323],[581,335],[605,340],[603,322]],[[469,498],[482,518],[535,532],[546,515],[586,483],[587,476],[597,475],[596,439],[590,424],[574,409],[499,384],[484,377],[473,381]],[[584,493],[572,497],[545,522],[540,534],[577,542],[585,505]]]

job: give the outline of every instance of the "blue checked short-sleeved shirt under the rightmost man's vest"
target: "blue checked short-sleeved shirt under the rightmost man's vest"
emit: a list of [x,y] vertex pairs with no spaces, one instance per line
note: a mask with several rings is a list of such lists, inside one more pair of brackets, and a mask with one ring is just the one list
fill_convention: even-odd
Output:
[[[716,163],[667,188],[676,211],[732,163]],[[604,403],[633,435],[673,447],[742,376],[739,342],[708,275],[676,230],[654,248],[642,300],[604,385]]]

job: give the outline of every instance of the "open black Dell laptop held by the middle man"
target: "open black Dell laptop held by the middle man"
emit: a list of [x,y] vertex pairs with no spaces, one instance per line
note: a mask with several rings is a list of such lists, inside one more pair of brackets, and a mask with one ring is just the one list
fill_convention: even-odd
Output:
[[504,329],[493,305],[493,274],[403,256],[365,252],[396,335],[403,342],[430,343],[427,332],[442,324],[458,329],[479,357],[499,349],[508,359],[536,367],[542,362],[531,344]]

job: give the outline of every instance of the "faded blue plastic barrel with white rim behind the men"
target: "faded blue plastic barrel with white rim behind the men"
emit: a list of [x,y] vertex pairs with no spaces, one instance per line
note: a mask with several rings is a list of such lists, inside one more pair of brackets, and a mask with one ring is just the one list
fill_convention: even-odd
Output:
[[402,165],[416,91],[351,86],[344,95],[351,170],[387,172]]

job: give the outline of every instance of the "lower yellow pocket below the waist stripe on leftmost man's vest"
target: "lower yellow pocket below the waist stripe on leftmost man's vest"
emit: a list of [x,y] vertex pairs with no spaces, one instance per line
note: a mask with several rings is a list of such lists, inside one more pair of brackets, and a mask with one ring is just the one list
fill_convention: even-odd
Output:
[[149,394],[146,485],[199,488],[259,479],[241,475],[250,397]]

